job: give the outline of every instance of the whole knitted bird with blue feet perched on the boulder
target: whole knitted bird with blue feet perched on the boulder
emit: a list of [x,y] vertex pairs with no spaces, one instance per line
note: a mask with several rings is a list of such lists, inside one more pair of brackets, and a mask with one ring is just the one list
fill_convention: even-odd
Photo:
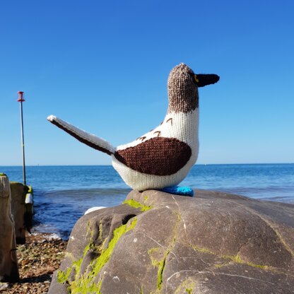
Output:
[[163,122],[117,148],[53,115],[47,119],[78,141],[110,155],[114,169],[132,189],[192,194],[173,186],[184,180],[198,156],[198,88],[218,80],[216,74],[195,74],[185,64],[175,66],[168,78],[169,104]]

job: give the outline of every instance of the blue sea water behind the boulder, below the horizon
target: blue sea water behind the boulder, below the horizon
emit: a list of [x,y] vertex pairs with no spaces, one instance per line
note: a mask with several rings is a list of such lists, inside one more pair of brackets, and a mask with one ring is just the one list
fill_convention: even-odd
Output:
[[[0,166],[9,180],[22,182],[20,166]],[[62,238],[93,206],[115,206],[131,189],[112,166],[28,166],[34,190],[35,227]],[[180,185],[294,204],[294,164],[194,165]]]

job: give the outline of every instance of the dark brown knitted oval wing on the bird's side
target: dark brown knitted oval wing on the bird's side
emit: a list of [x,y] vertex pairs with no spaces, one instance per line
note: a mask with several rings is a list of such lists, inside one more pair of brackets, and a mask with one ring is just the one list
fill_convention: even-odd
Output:
[[164,137],[155,137],[114,153],[124,165],[149,175],[175,174],[186,165],[191,155],[187,143]]

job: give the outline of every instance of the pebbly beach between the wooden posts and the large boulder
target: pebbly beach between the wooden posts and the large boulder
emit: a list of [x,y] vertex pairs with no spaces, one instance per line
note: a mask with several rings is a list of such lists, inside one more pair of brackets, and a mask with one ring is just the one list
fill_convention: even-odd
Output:
[[67,242],[52,234],[33,233],[17,245],[19,283],[0,283],[1,294],[47,293],[52,274],[64,258]]

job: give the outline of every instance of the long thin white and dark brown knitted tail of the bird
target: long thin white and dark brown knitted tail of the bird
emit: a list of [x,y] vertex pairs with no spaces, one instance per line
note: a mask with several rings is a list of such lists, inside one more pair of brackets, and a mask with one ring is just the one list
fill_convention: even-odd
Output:
[[74,138],[78,139],[78,141],[81,141],[82,143],[85,143],[86,145],[96,150],[107,153],[108,155],[112,155],[115,152],[115,148],[107,141],[98,138],[98,136],[89,134],[86,131],[78,129],[72,124],[64,122],[58,117],[54,117],[54,115],[50,115],[49,117],[47,117],[47,120],[49,120],[49,122],[52,122],[52,124],[55,124],[60,129],[63,129],[64,131],[66,131],[66,133],[69,133]]

